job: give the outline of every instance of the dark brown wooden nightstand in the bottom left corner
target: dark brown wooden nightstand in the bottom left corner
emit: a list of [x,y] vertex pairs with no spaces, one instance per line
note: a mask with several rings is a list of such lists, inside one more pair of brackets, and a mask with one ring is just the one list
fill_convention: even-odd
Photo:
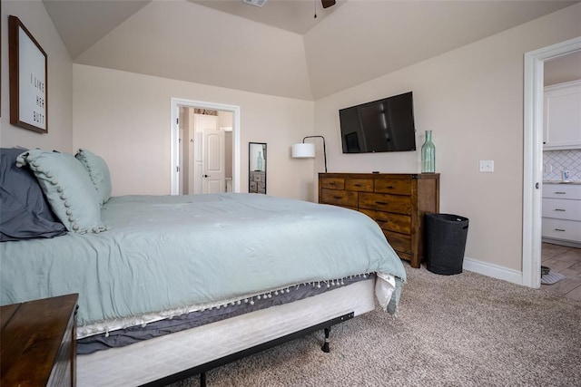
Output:
[[78,295],[0,308],[0,385],[76,384]]

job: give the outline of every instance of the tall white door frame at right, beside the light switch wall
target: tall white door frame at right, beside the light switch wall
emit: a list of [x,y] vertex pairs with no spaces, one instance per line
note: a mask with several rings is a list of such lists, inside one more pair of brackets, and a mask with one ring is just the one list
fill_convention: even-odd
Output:
[[541,285],[543,90],[545,61],[581,51],[581,36],[525,53],[523,162],[523,285]]

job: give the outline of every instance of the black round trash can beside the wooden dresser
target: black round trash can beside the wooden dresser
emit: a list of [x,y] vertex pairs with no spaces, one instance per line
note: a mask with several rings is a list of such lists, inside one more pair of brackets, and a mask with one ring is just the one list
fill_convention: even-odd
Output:
[[462,273],[468,218],[426,214],[424,220],[424,257],[428,270],[445,276]]

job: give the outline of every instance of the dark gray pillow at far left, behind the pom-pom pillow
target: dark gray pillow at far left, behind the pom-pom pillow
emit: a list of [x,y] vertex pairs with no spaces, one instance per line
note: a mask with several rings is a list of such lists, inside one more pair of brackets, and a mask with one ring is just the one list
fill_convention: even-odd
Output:
[[22,152],[0,149],[0,241],[66,234],[32,171],[16,167],[16,157]]

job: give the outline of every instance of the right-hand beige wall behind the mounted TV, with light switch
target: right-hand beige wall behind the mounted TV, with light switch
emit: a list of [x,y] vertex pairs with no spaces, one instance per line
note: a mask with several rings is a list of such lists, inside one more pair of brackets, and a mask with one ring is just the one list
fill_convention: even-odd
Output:
[[[315,103],[330,171],[419,172],[419,151],[341,154],[337,111],[414,92],[418,149],[433,131],[440,211],[468,217],[466,256],[521,270],[523,55],[581,35],[581,4],[417,63]],[[479,160],[494,160],[480,173]]]

